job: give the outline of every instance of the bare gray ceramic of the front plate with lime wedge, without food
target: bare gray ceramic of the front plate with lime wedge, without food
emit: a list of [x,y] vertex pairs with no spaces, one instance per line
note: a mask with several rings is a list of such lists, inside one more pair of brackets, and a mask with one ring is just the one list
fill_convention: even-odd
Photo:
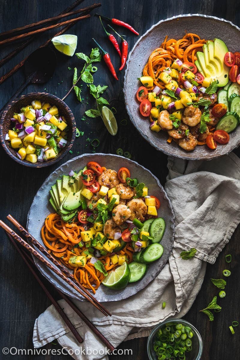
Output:
[[[112,168],[116,171],[122,166],[129,168],[131,175],[136,177],[139,182],[146,183],[149,188],[149,193],[151,193],[151,195],[157,196],[160,199],[161,207],[158,210],[158,215],[162,216],[166,221],[166,230],[161,241],[161,244],[164,247],[163,255],[158,261],[149,266],[147,274],[144,276],[144,278],[137,283],[129,284],[125,289],[120,291],[110,290],[104,285],[101,285],[101,287],[96,291],[95,297],[98,301],[122,300],[142,290],[157,276],[162,267],[166,264],[173,246],[174,213],[172,206],[159,180],[153,174],[151,174],[149,170],[143,166],[138,165],[138,163],[134,161],[117,155],[84,154],[82,156],[73,158],[64,165],[57,168],[38,190],[36,196],[33,199],[31,209],[28,213],[27,228],[29,233],[32,234],[33,237],[43,245],[40,231],[45,218],[47,215],[49,215],[49,213],[52,212],[52,208],[49,204],[49,190],[51,185],[55,184],[56,180],[59,179],[61,175],[68,174],[71,169],[80,170],[80,168],[86,166],[87,162],[91,160],[97,161],[102,166]],[[72,289],[68,284],[60,279],[48,267],[43,265],[36,258],[34,258],[34,261],[41,273],[54,286],[59,288],[66,295],[69,295],[74,299],[84,301],[83,297],[81,297],[74,289]]]

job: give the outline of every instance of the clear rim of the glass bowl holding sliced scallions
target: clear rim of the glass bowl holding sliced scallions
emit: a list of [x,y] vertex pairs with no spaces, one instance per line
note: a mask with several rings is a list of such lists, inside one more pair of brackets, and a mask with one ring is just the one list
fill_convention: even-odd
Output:
[[157,330],[160,329],[163,325],[165,325],[166,323],[170,323],[170,322],[173,322],[173,323],[184,323],[185,325],[189,325],[193,330],[194,332],[196,333],[197,335],[197,338],[198,338],[198,341],[199,341],[199,351],[198,351],[198,354],[197,354],[197,357],[194,359],[194,360],[200,360],[201,359],[201,356],[202,356],[202,352],[203,352],[203,340],[202,340],[202,337],[199,333],[199,331],[195,328],[194,325],[192,325],[191,323],[189,323],[189,321],[187,320],[184,320],[184,319],[181,319],[181,318],[172,318],[172,319],[169,319],[167,318],[166,320],[162,321],[161,323],[157,324],[151,331],[151,333],[149,334],[148,336],[148,340],[147,340],[147,352],[148,352],[148,357],[150,360],[155,360],[151,357],[151,354],[150,354],[150,342],[153,338],[153,336],[156,334]]

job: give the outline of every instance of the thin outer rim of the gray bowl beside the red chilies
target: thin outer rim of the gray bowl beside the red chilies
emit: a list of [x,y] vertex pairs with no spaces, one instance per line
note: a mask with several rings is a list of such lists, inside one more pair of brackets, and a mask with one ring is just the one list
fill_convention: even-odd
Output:
[[230,154],[234,149],[238,148],[240,146],[240,140],[235,144],[234,147],[232,147],[232,149],[226,153],[223,153],[223,154],[216,154],[214,155],[213,153],[213,156],[211,157],[189,157],[189,156],[181,156],[181,155],[178,155],[178,154],[175,154],[175,153],[172,153],[170,151],[167,151],[165,149],[162,149],[160,147],[158,147],[154,142],[153,140],[149,139],[149,137],[137,126],[137,124],[135,123],[135,120],[130,112],[130,108],[129,108],[129,105],[128,105],[128,101],[127,101],[127,98],[126,98],[126,94],[127,94],[127,84],[126,84],[126,76],[127,76],[127,73],[128,73],[128,68],[129,68],[129,63],[130,63],[130,58],[131,58],[131,54],[133,53],[133,51],[135,50],[135,48],[139,45],[140,41],[146,36],[148,35],[149,32],[151,32],[153,30],[153,28],[155,28],[156,26],[159,26],[161,23],[163,22],[167,22],[167,21],[171,21],[171,20],[174,20],[174,19],[177,19],[177,18],[185,18],[185,17],[193,17],[193,16],[197,16],[197,17],[203,17],[203,18],[208,18],[208,19],[214,19],[214,20],[218,20],[218,21],[222,21],[222,22],[225,22],[225,23],[228,23],[230,24],[232,27],[234,27],[236,30],[238,30],[240,32],[240,28],[235,25],[234,23],[232,23],[231,21],[229,20],[226,20],[226,19],[223,19],[223,18],[218,18],[216,16],[211,16],[211,15],[204,15],[204,14],[179,14],[179,15],[174,15],[170,18],[166,18],[166,19],[162,19],[160,21],[158,21],[157,23],[153,24],[146,32],[144,32],[144,34],[142,36],[140,36],[140,38],[135,42],[135,44],[133,45],[133,48],[131,49],[131,51],[129,52],[129,55],[128,55],[128,60],[126,62],[126,69],[125,69],[125,74],[124,74],[124,83],[123,83],[123,94],[124,94],[124,103],[125,103],[125,107],[126,107],[126,110],[127,110],[127,113],[128,113],[128,116],[131,120],[131,122],[133,123],[135,129],[138,130],[139,134],[145,139],[147,140],[147,142],[153,146],[156,150],[158,151],[161,151],[162,153],[164,153],[165,155],[167,156],[174,156],[176,158],[180,158],[180,159],[184,159],[184,160],[207,160],[207,161],[210,161],[212,159],[216,159],[216,158],[219,158],[219,157],[222,157],[222,156],[225,156],[225,155],[228,155]]

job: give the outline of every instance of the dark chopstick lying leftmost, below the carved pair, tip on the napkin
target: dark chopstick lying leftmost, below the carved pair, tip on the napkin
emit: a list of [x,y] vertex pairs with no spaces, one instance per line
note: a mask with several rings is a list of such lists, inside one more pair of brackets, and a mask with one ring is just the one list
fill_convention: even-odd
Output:
[[83,342],[83,338],[80,336],[80,334],[78,333],[77,329],[75,329],[73,323],[71,323],[71,321],[69,320],[68,316],[65,314],[65,312],[63,311],[63,309],[60,307],[59,303],[52,297],[52,295],[50,294],[50,292],[47,290],[47,288],[45,287],[45,285],[42,283],[41,279],[38,277],[37,273],[35,272],[35,270],[33,269],[33,267],[29,264],[29,262],[27,261],[27,254],[23,254],[22,250],[19,249],[19,247],[17,246],[17,244],[15,243],[15,241],[13,240],[13,238],[11,237],[10,234],[6,233],[10,239],[10,241],[13,243],[14,247],[17,249],[17,251],[19,252],[20,256],[22,257],[23,261],[25,262],[25,264],[28,266],[28,269],[31,271],[31,273],[33,274],[34,278],[37,280],[37,282],[40,284],[40,286],[42,287],[43,291],[45,292],[45,294],[47,295],[47,297],[49,298],[49,300],[52,302],[52,305],[54,305],[55,309],[57,310],[57,312],[59,313],[59,315],[61,316],[61,318],[63,319],[63,321],[65,321],[65,323],[68,325],[69,329],[71,330],[71,333],[73,334],[73,336],[75,337],[75,339],[77,339],[77,341],[79,343]]

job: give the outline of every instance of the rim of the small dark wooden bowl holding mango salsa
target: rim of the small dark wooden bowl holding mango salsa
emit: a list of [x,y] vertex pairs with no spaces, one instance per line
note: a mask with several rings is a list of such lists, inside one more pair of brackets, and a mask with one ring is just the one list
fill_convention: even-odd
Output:
[[[32,96],[42,96],[42,95],[49,97],[50,99],[52,99],[55,102],[58,102],[58,103],[60,102],[66,108],[66,111],[69,113],[69,117],[70,117],[70,122],[71,122],[71,127],[72,127],[72,136],[71,136],[71,139],[69,140],[68,146],[66,146],[63,149],[63,151],[60,152],[60,155],[58,154],[56,158],[54,158],[54,159],[52,159],[50,161],[31,163],[29,161],[24,161],[22,159],[19,159],[17,157],[17,154],[16,154],[16,156],[13,156],[13,154],[10,152],[10,150],[8,149],[8,147],[7,147],[6,143],[5,143],[5,139],[4,139],[4,135],[3,135],[3,123],[4,123],[7,112],[11,109],[11,107],[13,105],[18,103],[22,99],[26,99],[26,98],[32,97]],[[32,93],[27,93],[27,94],[21,95],[18,98],[13,99],[13,101],[11,101],[5,107],[5,109],[4,109],[4,111],[3,111],[2,115],[1,115],[1,119],[0,119],[0,142],[1,142],[1,145],[2,145],[5,152],[9,155],[9,157],[11,159],[13,159],[14,161],[16,161],[19,164],[24,165],[24,166],[41,168],[41,167],[46,167],[46,166],[50,166],[50,165],[55,164],[56,162],[61,160],[66,155],[67,152],[69,152],[69,150],[73,146],[75,136],[76,136],[76,122],[75,122],[75,118],[73,116],[73,113],[71,112],[71,109],[69,108],[69,106],[63,100],[61,100],[57,96],[55,96],[53,94],[50,94],[50,93],[45,93],[45,92],[39,91],[37,93],[32,92]]]

